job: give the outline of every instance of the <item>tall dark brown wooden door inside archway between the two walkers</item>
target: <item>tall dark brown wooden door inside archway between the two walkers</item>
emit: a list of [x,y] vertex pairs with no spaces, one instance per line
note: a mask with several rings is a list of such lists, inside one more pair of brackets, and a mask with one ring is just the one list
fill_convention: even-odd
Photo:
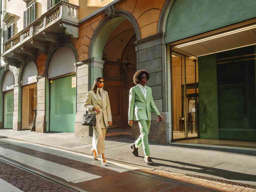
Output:
[[136,65],[124,68],[121,63],[105,61],[104,90],[108,92],[113,125],[109,128],[128,127],[129,91],[133,84]]

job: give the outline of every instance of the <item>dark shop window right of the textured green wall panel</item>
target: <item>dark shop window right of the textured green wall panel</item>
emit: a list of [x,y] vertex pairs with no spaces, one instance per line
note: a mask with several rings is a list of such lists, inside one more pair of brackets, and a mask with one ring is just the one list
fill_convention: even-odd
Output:
[[[254,46],[219,53],[217,63],[220,138],[237,139],[228,131],[256,129]],[[251,140],[246,134],[241,140]]]

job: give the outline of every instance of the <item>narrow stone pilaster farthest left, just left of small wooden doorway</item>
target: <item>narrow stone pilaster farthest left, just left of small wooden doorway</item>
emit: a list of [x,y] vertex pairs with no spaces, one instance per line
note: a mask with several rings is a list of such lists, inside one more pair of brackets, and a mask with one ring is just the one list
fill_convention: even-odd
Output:
[[[13,86],[13,130],[14,131],[20,131],[21,130],[21,114],[19,114],[19,111],[21,111],[21,86],[19,84],[16,84]],[[20,108],[20,109],[19,109]]]

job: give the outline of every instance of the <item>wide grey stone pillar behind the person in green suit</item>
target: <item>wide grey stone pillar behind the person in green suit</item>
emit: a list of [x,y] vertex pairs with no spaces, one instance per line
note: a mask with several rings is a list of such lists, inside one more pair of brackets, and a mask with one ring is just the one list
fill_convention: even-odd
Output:
[[[150,73],[150,79],[147,86],[151,87],[154,102],[158,111],[163,116],[162,122],[157,122],[157,117],[152,113],[152,122],[150,133],[148,135],[149,143],[168,144],[169,143],[169,117],[167,107],[167,73],[165,52],[164,52],[164,35],[158,33],[156,35],[146,37],[135,41],[137,53],[137,69],[145,69]],[[132,126],[132,139],[137,139],[140,135],[138,124]]]

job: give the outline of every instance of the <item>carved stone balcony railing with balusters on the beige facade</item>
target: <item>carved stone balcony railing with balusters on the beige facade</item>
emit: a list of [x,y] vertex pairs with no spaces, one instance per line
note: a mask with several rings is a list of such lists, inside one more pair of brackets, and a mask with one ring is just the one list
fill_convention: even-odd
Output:
[[36,36],[48,27],[59,23],[62,20],[73,26],[78,26],[78,9],[79,6],[61,1],[46,13],[41,15],[33,23],[14,35],[12,38],[3,43],[4,53],[2,56],[19,47],[31,37]]

